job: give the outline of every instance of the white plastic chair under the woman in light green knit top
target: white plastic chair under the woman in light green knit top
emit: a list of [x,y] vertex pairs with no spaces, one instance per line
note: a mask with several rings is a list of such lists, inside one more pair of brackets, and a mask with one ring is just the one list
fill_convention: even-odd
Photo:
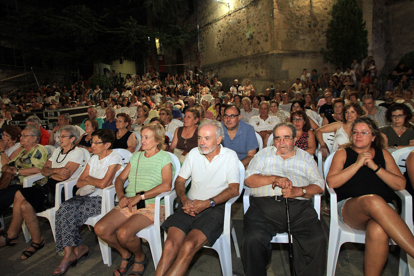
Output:
[[[173,176],[173,182],[171,185],[171,190],[173,190],[174,182],[177,179],[181,166],[180,166],[180,161],[178,161],[177,156],[175,156],[171,152],[168,152],[168,154],[170,154],[173,166],[176,168],[176,173]],[[116,191],[115,191],[115,186],[110,186],[105,189],[106,189],[105,192],[106,192],[107,210],[109,211],[114,207],[113,198],[115,197]],[[162,254],[161,230],[160,230],[161,223],[159,221],[160,201],[166,194],[168,194],[168,192],[161,193],[155,197],[154,223],[142,229],[136,234],[137,237],[143,238],[147,240],[147,242],[149,243],[149,248],[151,249],[152,260],[154,261],[155,269],[158,265],[159,259],[161,259],[161,254]],[[101,253],[104,259],[104,263],[105,263],[105,258],[106,258],[108,259],[108,266],[111,266],[112,264],[111,247],[107,245],[104,248],[104,251],[102,251],[102,247],[101,247]]]

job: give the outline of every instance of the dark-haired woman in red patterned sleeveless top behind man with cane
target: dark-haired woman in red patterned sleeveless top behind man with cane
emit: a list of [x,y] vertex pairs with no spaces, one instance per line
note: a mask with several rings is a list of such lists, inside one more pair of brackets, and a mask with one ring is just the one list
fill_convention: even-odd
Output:
[[296,143],[299,149],[307,151],[309,154],[315,154],[316,141],[315,134],[310,129],[310,121],[303,110],[296,110],[290,113],[290,120],[296,127]]

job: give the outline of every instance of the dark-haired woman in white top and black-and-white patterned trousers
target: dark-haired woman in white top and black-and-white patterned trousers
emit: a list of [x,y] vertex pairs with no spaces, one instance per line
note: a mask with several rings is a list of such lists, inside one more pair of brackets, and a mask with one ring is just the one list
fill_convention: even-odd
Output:
[[101,213],[102,189],[112,185],[124,168],[122,158],[111,149],[114,140],[115,134],[110,129],[97,130],[92,134],[94,155],[89,158],[76,187],[92,185],[95,190],[87,196],[75,195],[63,202],[56,211],[56,252],[64,251],[65,255],[53,275],[64,274],[70,265],[76,265],[81,257],[89,253],[89,248],[83,244],[79,227],[89,217]]

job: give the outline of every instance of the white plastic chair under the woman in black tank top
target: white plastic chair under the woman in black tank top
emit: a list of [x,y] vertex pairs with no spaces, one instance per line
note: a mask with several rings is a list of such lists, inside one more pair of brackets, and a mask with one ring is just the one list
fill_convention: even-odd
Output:
[[[326,175],[328,174],[329,168],[331,166],[332,158],[335,155],[335,152],[330,154],[325,160],[325,183]],[[327,257],[327,267],[326,275],[335,275],[336,264],[338,260],[339,250],[341,245],[345,242],[356,242],[356,243],[365,243],[365,231],[356,230],[347,226],[338,218],[337,210],[337,195],[335,190],[328,187],[326,188],[330,194],[331,202],[331,221],[329,227],[329,245],[328,245],[328,257]],[[401,217],[407,223],[411,232],[413,232],[413,221],[412,221],[412,197],[406,191],[395,191],[398,197],[401,198],[402,203],[402,214]],[[397,245],[393,240],[390,239],[390,245]],[[400,253],[400,273],[399,275],[407,275],[407,262],[404,261],[404,252],[401,250]],[[414,275],[414,260],[407,254],[407,259],[409,262],[409,272],[410,275]]]

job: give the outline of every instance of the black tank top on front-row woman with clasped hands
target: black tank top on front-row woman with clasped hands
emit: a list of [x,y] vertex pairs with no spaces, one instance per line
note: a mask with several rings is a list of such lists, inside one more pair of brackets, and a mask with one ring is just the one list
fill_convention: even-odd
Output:
[[[358,154],[352,148],[346,148],[347,159],[344,169],[356,162]],[[384,154],[381,149],[375,149],[373,161],[385,169]],[[392,203],[392,189],[381,180],[368,166],[362,166],[344,185],[335,188],[338,202],[349,197],[360,197],[366,194],[378,194],[387,203]]]

